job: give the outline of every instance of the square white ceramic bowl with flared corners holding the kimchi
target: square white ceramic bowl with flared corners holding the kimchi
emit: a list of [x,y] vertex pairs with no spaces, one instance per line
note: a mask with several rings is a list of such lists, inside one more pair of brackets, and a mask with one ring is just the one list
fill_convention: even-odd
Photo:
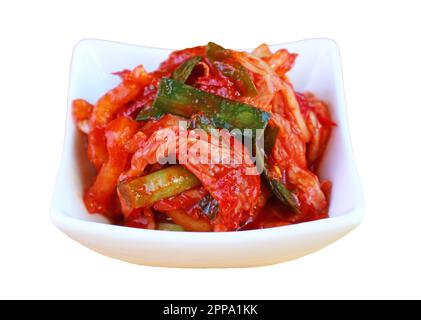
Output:
[[[257,45],[257,43],[256,43]],[[73,51],[66,138],[51,206],[56,226],[94,251],[132,263],[167,267],[251,267],[296,259],[317,251],[354,229],[364,215],[345,110],[338,47],[328,39],[271,46],[299,54],[290,78],[298,91],[329,102],[338,124],[321,168],[333,182],[329,218],[279,228],[226,233],[142,230],[109,224],[87,213],[82,194],[89,176],[80,134],[71,117],[75,98],[95,102],[119,79],[112,72],[143,64],[154,70],[170,50],[102,40],[83,40]]]

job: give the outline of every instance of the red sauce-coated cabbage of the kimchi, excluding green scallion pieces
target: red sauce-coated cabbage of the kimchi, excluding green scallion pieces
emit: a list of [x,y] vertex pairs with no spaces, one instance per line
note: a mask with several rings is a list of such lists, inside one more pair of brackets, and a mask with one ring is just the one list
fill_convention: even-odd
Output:
[[[286,73],[293,67],[296,54],[285,49],[271,53],[265,45],[257,48],[253,56],[232,52],[231,62],[247,68],[258,96],[245,97],[241,84],[224,76],[206,57],[206,47],[198,46],[174,51],[153,72],[147,72],[141,65],[116,72],[121,83],[95,105],[82,99],[73,101],[74,120],[87,134],[88,157],[98,172],[84,196],[89,212],[101,213],[125,226],[147,229],[155,229],[159,221],[177,220],[183,226],[185,219],[185,229],[190,230],[194,229],[196,219],[198,228],[206,231],[269,228],[327,217],[332,185],[319,181],[317,176],[317,167],[335,126],[327,105],[312,94],[293,91]],[[128,207],[118,197],[118,183],[162,168],[154,162],[154,152],[159,147],[154,137],[159,131],[172,130],[181,118],[165,115],[159,120],[141,122],[135,118],[140,110],[152,106],[161,78],[171,77],[181,64],[195,56],[202,60],[187,84],[271,113],[270,123],[280,130],[268,161],[279,167],[280,179],[298,199],[298,214],[285,209],[258,175],[246,175],[247,166],[187,163],[185,167],[199,178],[202,186],[148,208]],[[198,205],[209,195],[219,204],[214,219],[204,215]]]

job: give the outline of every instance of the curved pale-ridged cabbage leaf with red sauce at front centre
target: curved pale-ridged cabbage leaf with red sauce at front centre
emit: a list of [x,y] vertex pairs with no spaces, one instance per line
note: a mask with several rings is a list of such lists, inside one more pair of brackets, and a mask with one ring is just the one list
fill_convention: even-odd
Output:
[[[176,137],[177,158],[184,158],[185,166],[191,173],[193,173],[204,185],[206,190],[219,202],[219,214],[214,221],[216,231],[228,231],[239,228],[251,216],[254,216],[254,207],[257,204],[257,199],[260,194],[260,177],[257,174],[246,174],[247,170],[256,170],[254,164],[249,157],[249,154],[244,147],[228,148],[225,146],[220,152],[229,153],[231,161],[239,160],[238,165],[234,166],[232,163],[199,163],[195,159],[194,154],[187,154],[192,147],[197,147],[199,144],[214,149],[214,154],[219,151],[220,144],[212,144],[213,142],[199,139],[199,136],[191,135],[189,139],[181,139],[179,127],[167,127],[155,131],[149,139],[145,140],[139,147],[138,151],[133,155],[131,168],[121,179],[124,181],[139,175],[144,174],[144,170],[150,164],[156,163],[156,153],[168,141],[159,139],[161,136],[174,135]],[[186,130],[186,134],[189,131]],[[231,138],[230,138],[231,139]],[[239,143],[236,139],[232,139],[234,143]],[[183,147],[183,144],[184,145]],[[166,148],[164,148],[166,150]],[[240,150],[243,151],[240,153]],[[239,157],[244,157],[241,161]]]

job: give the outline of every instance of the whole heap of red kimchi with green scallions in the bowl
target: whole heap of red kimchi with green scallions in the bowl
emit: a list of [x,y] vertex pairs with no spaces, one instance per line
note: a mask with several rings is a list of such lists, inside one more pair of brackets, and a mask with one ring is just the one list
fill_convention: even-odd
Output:
[[328,216],[317,173],[328,105],[297,92],[297,54],[215,43],[172,52],[155,71],[122,70],[118,86],[72,103],[96,177],[86,209],[127,227],[240,231]]

